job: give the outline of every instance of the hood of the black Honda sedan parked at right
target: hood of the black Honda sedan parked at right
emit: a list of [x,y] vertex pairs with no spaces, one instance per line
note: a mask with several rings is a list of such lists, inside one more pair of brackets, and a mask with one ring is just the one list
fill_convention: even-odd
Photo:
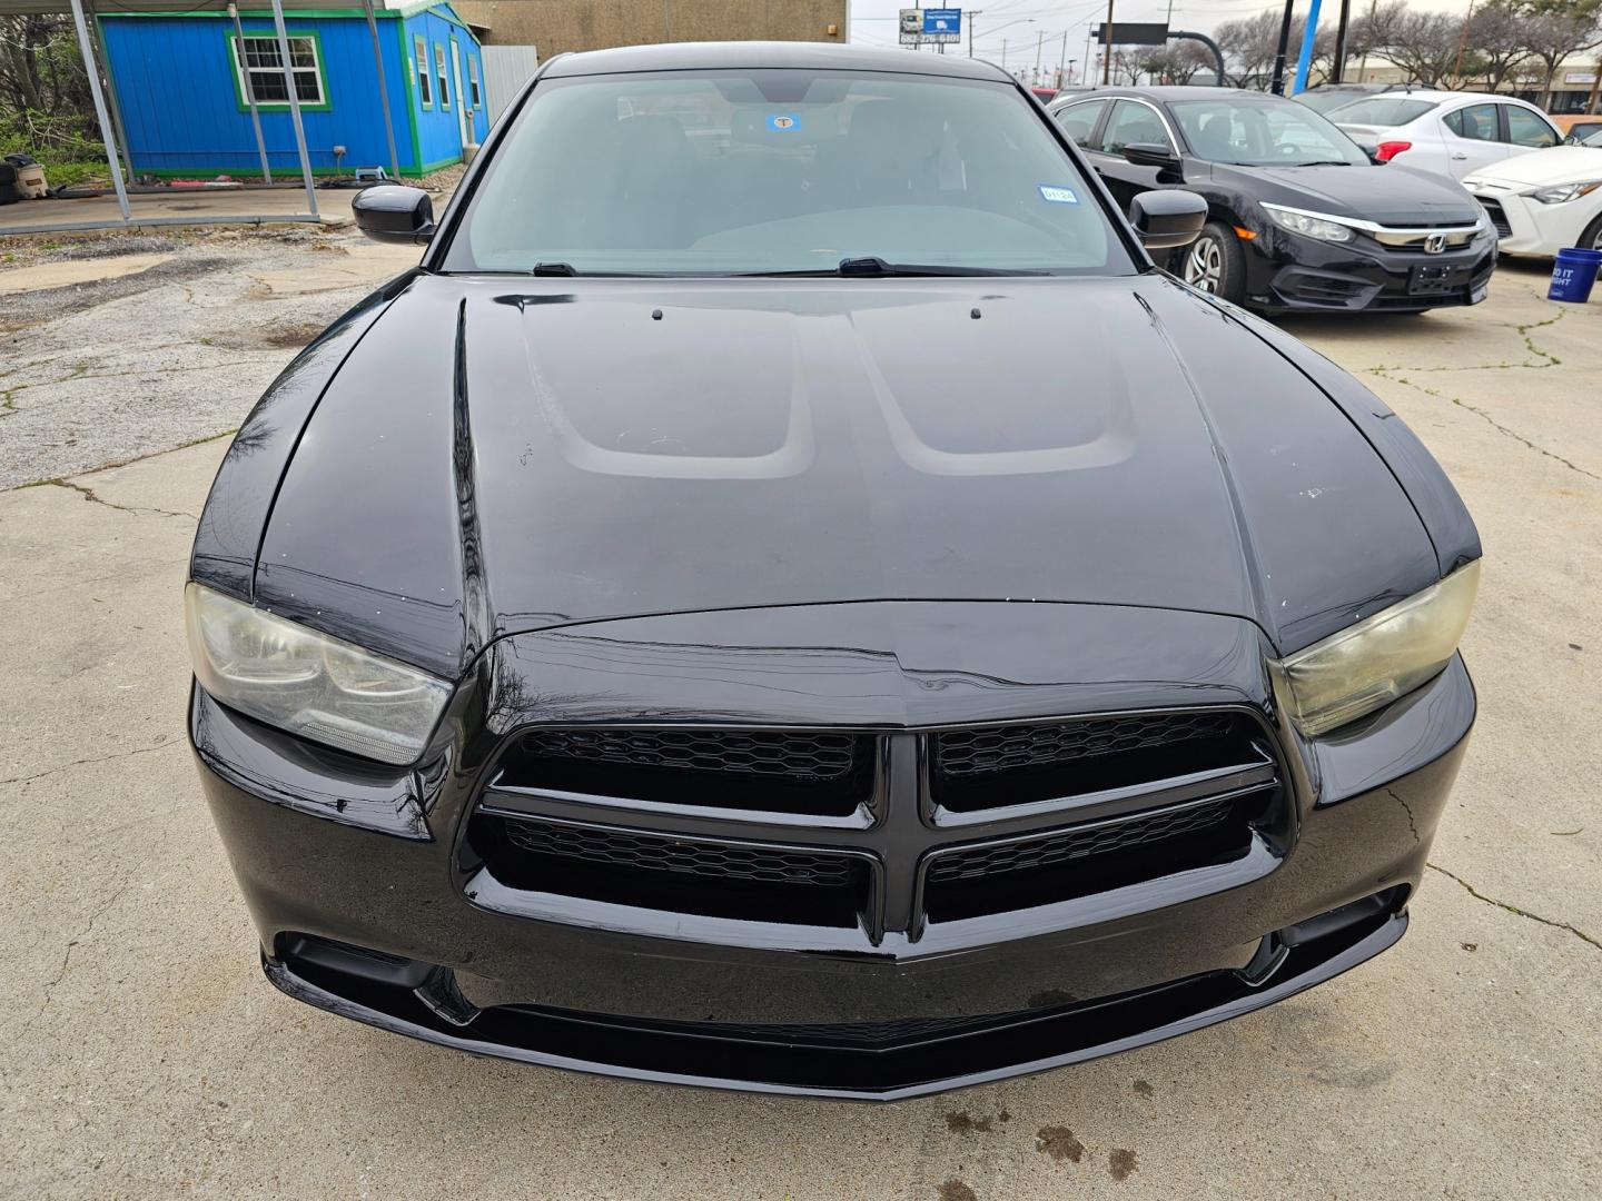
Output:
[[1310,208],[1383,226],[1472,224],[1480,210],[1451,179],[1403,167],[1229,167],[1214,163],[1214,183],[1254,200]]

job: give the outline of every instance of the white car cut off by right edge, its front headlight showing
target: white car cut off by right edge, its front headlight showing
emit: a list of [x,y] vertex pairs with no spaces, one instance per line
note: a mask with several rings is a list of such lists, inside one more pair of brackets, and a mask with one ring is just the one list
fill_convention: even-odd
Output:
[[1602,133],[1493,163],[1463,186],[1485,207],[1504,255],[1602,250]]

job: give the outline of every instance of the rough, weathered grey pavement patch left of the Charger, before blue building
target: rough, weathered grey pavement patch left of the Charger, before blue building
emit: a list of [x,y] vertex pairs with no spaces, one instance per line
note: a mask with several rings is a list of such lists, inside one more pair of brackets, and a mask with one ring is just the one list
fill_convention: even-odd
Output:
[[168,258],[0,295],[0,488],[235,429],[301,346],[417,261],[327,227],[10,239],[0,287],[48,285],[53,264],[80,259],[109,271],[127,255]]

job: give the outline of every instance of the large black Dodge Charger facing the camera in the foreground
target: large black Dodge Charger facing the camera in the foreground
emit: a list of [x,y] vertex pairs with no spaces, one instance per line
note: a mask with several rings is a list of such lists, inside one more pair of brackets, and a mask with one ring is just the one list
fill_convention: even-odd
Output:
[[268,389],[189,732],[268,977],[471,1052],[894,1099],[1402,937],[1480,544],[1330,362],[1158,271],[1004,72],[562,56]]

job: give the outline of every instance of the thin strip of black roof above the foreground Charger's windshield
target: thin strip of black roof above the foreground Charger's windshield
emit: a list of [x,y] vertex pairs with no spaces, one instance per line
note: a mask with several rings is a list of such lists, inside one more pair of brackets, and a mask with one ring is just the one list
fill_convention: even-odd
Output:
[[904,75],[952,75],[1016,83],[1001,67],[958,54],[920,54],[912,50],[833,46],[822,42],[670,42],[557,54],[546,78],[614,75],[634,70],[892,70]]

